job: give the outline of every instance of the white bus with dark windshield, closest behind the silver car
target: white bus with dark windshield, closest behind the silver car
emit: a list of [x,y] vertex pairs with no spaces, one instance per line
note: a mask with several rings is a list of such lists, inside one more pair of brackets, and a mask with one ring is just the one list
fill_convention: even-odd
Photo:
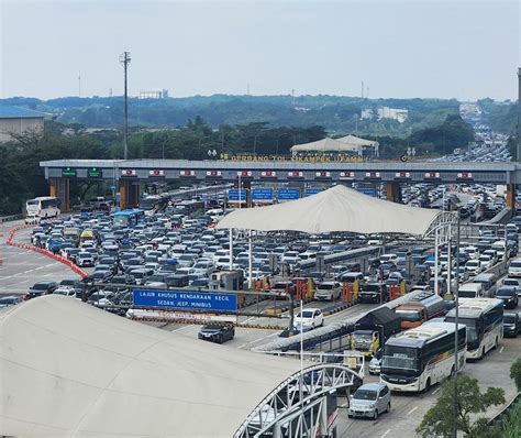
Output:
[[[430,321],[389,338],[380,381],[391,391],[422,392],[454,374],[455,324]],[[465,365],[466,327],[458,325],[458,371]]]

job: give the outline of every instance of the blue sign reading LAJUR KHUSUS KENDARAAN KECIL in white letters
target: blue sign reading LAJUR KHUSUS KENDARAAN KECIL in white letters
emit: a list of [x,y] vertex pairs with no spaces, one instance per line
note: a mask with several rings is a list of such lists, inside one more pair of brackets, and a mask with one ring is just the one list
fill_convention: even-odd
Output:
[[235,294],[191,291],[134,289],[134,306],[178,310],[236,311]]

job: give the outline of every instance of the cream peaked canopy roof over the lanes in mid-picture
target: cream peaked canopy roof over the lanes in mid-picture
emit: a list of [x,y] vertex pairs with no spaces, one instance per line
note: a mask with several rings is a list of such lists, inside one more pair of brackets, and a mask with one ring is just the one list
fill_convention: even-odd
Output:
[[311,234],[351,231],[423,236],[440,215],[439,210],[408,207],[337,185],[285,204],[235,210],[221,219],[217,228]]

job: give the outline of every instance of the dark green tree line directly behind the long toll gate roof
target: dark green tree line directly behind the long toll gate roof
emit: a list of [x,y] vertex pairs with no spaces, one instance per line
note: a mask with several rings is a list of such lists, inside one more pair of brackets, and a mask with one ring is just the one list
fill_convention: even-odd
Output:
[[[289,155],[295,144],[321,140],[324,127],[278,127],[264,122],[222,124],[212,128],[200,116],[176,129],[131,128],[129,158],[204,160],[209,151],[221,154]],[[435,128],[406,138],[366,136],[380,143],[383,158],[398,158],[408,147],[417,155],[440,155],[464,147],[474,132],[459,116],[447,116]],[[0,145],[0,215],[18,213],[25,199],[48,193],[41,161],[65,158],[121,158],[122,133],[115,129],[87,130],[80,123],[45,122],[43,136],[19,135]],[[71,198],[84,198],[92,183],[71,186]]]

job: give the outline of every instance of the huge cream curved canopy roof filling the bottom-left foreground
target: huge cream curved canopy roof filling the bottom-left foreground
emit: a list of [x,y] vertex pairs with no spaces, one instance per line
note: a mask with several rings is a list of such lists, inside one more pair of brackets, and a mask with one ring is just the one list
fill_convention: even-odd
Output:
[[0,314],[0,435],[231,437],[299,366],[49,295]]

